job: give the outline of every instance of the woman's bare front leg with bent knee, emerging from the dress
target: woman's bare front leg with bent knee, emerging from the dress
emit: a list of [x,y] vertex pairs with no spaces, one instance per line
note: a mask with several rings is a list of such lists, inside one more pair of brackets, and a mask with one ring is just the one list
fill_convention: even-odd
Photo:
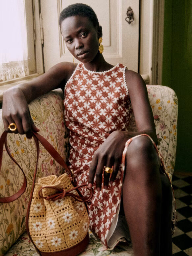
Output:
[[148,137],[134,139],[127,149],[123,207],[135,256],[160,255],[162,206],[160,161]]

